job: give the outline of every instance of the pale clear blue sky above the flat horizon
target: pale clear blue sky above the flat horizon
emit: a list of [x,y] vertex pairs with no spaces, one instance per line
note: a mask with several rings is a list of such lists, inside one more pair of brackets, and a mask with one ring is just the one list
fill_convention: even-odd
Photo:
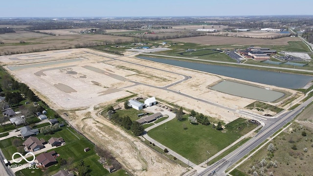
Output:
[[3,0],[8,17],[313,15],[313,0]]

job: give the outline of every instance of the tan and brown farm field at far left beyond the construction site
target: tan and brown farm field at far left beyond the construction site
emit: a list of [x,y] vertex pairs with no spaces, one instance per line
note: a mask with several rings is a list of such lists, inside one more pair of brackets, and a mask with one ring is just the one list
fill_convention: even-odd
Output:
[[[68,49],[74,48],[75,44],[85,43],[102,43],[104,41],[128,41],[131,42],[133,38],[100,35],[100,34],[84,34],[84,35],[67,35],[67,36],[51,36],[28,31],[17,31],[16,33],[0,34],[1,44],[0,55],[7,52],[24,53],[35,51],[46,51],[52,49]],[[24,41],[25,43],[20,43]]]

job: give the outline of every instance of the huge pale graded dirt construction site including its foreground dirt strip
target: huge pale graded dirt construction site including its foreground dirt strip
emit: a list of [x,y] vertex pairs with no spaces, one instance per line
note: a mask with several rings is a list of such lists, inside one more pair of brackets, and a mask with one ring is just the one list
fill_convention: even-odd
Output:
[[[8,72],[28,85],[69,124],[97,145],[109,149],[127,170],[138,176],[156,173],[177,176],[185,168],[101,116],[104,107],[135,93],[142,97],[155,96],[169,106],[196,110],[228,123],[242,115],[194,98],[235,110],[242,110],[255,101],[208,88],[233,78],[137,59],[133,52],[124,54],[116,56],[81,48],[5,55],[0,61]],[[291,96],[298,93],[286,88],[249,84],[279,89]]]

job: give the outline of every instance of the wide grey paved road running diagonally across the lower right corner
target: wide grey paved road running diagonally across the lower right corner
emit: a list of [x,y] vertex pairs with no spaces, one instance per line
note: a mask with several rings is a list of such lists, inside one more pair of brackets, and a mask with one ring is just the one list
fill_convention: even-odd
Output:
[[313,97],[302,103],[300,106],[291,110],[289,112],[280,114],[277,118],[268,118],[265,127],[258,132],[256,136],[246,142],[244,145],[239,147],[237,150],[228,154],[218,162],[210,165],[201,173],[198,173],[197,176],[210,176],[211,172],[215,170],[218,172],[219,176],[226,176],[225,170],[230,167],[232,164],[237,162],[239,159],[248,154],[255,147],[260,145],[273,133],[281,129],[284,125],[290,122],[298,113],[300,113],[306,106],[308,106],[313,101]]

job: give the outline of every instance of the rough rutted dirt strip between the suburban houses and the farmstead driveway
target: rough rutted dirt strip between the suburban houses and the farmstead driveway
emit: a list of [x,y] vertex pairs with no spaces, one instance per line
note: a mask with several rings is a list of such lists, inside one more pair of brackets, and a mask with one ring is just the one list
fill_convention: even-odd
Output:
[[143,144],[138,138],[113,125],[92,107],[69,112],[71,125],[96,145],[110,150],[128,171],[136,176],[179,176],[182,168]]

